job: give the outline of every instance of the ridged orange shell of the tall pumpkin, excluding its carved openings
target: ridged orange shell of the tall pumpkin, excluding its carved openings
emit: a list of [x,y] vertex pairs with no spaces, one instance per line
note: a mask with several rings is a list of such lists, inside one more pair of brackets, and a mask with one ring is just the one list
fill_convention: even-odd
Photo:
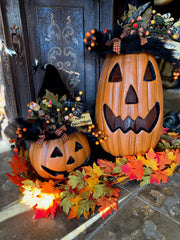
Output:
[[[109,61],[109,65],[107,64],[106,60]],[[101,91],[103,91],[103,95],[101,95],[101,98],[99,98],[99,94],[97,95],[95,116],[98,128],[104,130],[105,135],[108,136],[108,140],[102,143],[102,147],[115,156],[126,155],[129,153],[134,155],[138,153],[137,151],[144,153],[145,151],[148,151],[150,147],[154,147],[154,145],[159,140],[159,132],[161,132],[162,129],[161,114],[163,109],[162,100],[159,96],[159,91],[161,92],[161,89],[159,90],[159,88],[162,88],[162,86],[160,86],[161,81],[160,79],[158,83],[154,83],[153,81],[151,81],[151,83],[143,81],[143,74],[146,71],[148,60],[150,60],[153,64],[155,62],[154,56],[151,54],[146,54],[144,52],[141,54],[129,54],[120,56],[111,55],[109,58],[106,58],[106,60],[105,65],[108,65],[109,69],[108,74],[106,69],[106,75],[102,72],[100,76],[101,85],[100,88],[98,87],[98,93],[101,94]],[[108,83],[106,81],[109,77],[110,71],[117,62],[121,68],[123,78],[122,82]],[[133,64],[129,65],[129,69],[128,66],[126,66],[128,63]],[[158,69],[156,69],[157,66],[154,67],[155,72],[158,72]],[[135,70],[136,68],[137,71]],[[135,77],[133,78],[134,75]],[[135,103],[128,105],[124,103],[130,85],[132,85],[136,91],[139,100],[138,104]],[[152,87],[148,87],[150,85],[154,87],[154,90],[152,90],[152,96],[150,96],[148,91],[149,89],[152,89]],[[121,87],[119,88],[117,86]],[[116,88],[119,89],[117,90]],[[158,92],[158,94],[156,92]],[[121,119],[124,120],[127,116],[130,116],[131,119],[135,120],[138,116],[144,119],[149,111],[153,108],[156,101],[158,101],[160,104],[160,115],[158,119],[159,122],[157,122],[155,128],[153,128],[150,134],[144,130],[141,130],[138,134],[134,133],[132,130],[124,134],[119,129],[112,133],[107,126],[106,121],[104,120],[104,113],[102,110],[104,103],[109,106],[116,117],[121,116]],[[141,123],[139,120],[138,122]],[[142,124],[144,123],[142,122]],[[154,131],[157,133],[153,134]],[[153,136],[157,136],[157,138],[154,138]],[[130,148],[130,150],[128,150],[128,148]]]

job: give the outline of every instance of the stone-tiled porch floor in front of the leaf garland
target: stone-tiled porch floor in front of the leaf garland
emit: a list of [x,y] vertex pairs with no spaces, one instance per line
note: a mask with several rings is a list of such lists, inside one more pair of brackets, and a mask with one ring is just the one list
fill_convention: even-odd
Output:
[[[164,93],[164,113],[180,111],[180,94]],[[67,220],[63,212],[55,219],[34,220],[34,210],[19,203],[18,188],[8,181],[8,161],[13,152],[0,142],[0,240],[179,240],[180,236],[180,174],[165,184],[142,188],[129,182],[121,189],[119,210],[102,220],[94,216]]]

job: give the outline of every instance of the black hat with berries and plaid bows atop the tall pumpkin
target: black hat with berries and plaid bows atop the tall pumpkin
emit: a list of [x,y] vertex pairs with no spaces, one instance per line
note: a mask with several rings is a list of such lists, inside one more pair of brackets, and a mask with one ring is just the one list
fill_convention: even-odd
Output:
[[150,52],[174,66],[180,59],[180,21],[170,13],[161,15],[147,0],[127,0],[113,30],[92,29],[84,39],[88,50],[129,54]]

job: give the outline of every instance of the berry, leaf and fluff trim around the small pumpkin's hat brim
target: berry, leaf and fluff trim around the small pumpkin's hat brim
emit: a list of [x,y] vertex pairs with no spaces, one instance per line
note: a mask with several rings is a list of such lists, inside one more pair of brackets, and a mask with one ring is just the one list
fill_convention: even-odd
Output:
[[18,152],[20,147],[25,148],[25,140],[38,141],[39,136],[47,139],[57,138],[56,130],[63,127],[63,131],[71,125],[73,116],[80,116],[84,110],[82,103],[82,91],[73,99],[63,95],[60,100],[46,90],[42,99],[27,104],[27,120],[17,119],[19,126],[16,131],[16,139],[10,139],[14,145],[14,151]]

